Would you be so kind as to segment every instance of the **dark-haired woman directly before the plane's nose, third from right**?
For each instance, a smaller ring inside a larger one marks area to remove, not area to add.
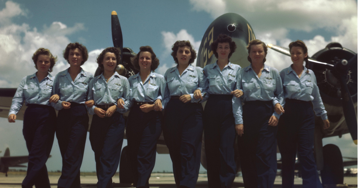
[[[208,101],[203,115],[209,188],[231,187],[236,176],[236,117],[233,109],[237,109],[234,90],[237,72],[241,67],[229,61],[235,49],[236,44],[231,37],[220,34],[211,44],[211,50],[218,60],[204,67],[209,85],[204,97]]]

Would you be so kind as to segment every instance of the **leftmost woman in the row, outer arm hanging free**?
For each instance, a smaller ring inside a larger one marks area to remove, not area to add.
[[[24,104],[23,134],[29,151],[29,163],[22,187],[50,188],[46,161],[50,155],[56,125],[53,109],[58,96],[52,93],[54,77],[49,73],[57,61],[50,50],[39,48],[32,59],[37,72],[24,77],[11,103],[8,120],[15,122],[16,114]]]

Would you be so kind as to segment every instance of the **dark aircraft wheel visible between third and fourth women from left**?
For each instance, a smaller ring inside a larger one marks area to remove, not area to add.
[[[130,163],[128,146],[122,149],[121,159],[119,161],[119,182],[120,183],[134,183],[132,166]]]

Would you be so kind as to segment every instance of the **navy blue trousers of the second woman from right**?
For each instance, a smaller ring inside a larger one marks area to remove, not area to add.
[[[246,101],[242,107],[244,134],[238,136],[245,188],[272,188],[277,172],[277,126],[270,126],[272,101]]]

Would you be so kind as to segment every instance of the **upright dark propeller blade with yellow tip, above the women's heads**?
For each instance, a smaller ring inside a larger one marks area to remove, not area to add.
[[[112,11],[111,16],[111,22],[112,22],[112,40],[113,40],[113,46],[116,48],[120,48],[121,52],[123,52],[123,37],[122,37],[122,29],[121,25],[119,24],[119,19],[116,11]],[[121,62],[122,64],[123,58],[121,53]]]

